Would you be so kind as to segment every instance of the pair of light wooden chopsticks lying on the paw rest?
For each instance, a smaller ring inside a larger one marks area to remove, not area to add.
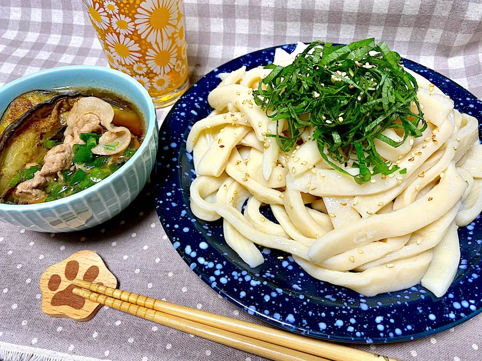
[[[72,284],[79,287],[74,294],[90,301],[276,361],[397,361],[91,282]]]

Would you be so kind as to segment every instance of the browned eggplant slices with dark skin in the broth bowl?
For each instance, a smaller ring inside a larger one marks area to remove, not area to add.
[[[48,97],[46,93],[42,95]],[[9,191],[9,184],[17,173],[41,155],[43,141],[65,127],[63,119],[82,97],[78,93],[53,95],[29,109],[27,101],[30,100],[26,94],[14,99],[0,121],[0,127],[4,121],[9,122],[0,135],[0,198]],[[22,99],[17,101],[19,98]],[[21,115],[13,118],[14,114]]]

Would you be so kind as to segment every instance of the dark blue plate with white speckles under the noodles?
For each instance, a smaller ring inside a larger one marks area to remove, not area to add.
[[[283,48],[292,51],[294,45]],[[482,311],[480,216],[459,230],[462,260],[455,281],[442,298],[420,285],[364,297],[315,280],[291,256],[278,250],[263,249],[265,263],[252,269],[224,242],[221,221],[204,222],[193,216],[189,186],[195,173],[185,147],[191,125],[211,111],[207,95],[220,81],[217,74],[243,65],[248,69],[266,65],[274,51],[260,50],[214,69],[179,99],[161,127],[154,171],[156,208],[184,261],[216,292],[250,314],[324,339],[368,343],[409,340],[446,330]],[[482,102],[467,90],[410,60],[404,64],[450,95],[459,111],[482,119]]]

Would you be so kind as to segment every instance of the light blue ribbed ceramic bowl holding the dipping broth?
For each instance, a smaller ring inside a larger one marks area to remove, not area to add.
[[[144,87],[117,70],[98,66],[65,66],[43,70],[0,88],[0,114],[18,95],[29,90],[61,87],[109,91],[138,107],[146,122],[139,150],[102,182],[72,196],[35,205],[0,204],[0,221],[38,232],[72,232],[96,226],[125,209],[139,194],[156,161],[156,110]]]

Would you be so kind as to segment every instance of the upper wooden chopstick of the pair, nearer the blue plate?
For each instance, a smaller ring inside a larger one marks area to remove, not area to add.
[[[81,280],[74,280],[72,283],[78,287],[115,299],[161,311],[176,317],[192,320],[204,325],[213,326],[228,332],[246,335],[253,339],[259,339],[271,344],[277,344],[319,357],[328,358],[333,361],[397,361],[395,358],[388,358],[387,356],[381,356],[376,353],[321,341],[276,328],[266,327],[95,283]]]

